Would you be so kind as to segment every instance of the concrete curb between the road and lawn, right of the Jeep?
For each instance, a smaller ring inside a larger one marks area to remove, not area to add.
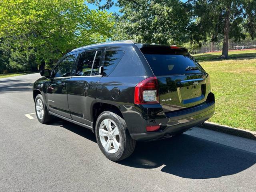
[[[204,124],[200,127],[218,131],[218,132],[222,132],[222,133],[226,133],[226,134],[230,134],[230,135],[235,135],[235,136],[239,136],[239,137],[256,140],[256,132],[253,132],[253,131],[218,125],[218,124],[212,123],[212,122],[204,122]]]

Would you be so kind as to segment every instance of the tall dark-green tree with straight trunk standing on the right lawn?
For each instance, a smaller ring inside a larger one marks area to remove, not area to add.
[[[190,24],[190,39],[199,43],[223,38],[222,58],[228,58],[228,40],[256,37],[255,0],[194,0],[191,1],[194,20]]]

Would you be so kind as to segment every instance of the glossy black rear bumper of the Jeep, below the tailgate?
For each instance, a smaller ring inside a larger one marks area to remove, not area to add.
[[[146,120],[146,123],[140,128],[137,127],[136,131],[131,132],[129,130],[130,135],[134,140],[138,141],[150,141],[170,137],[202,124],[213,116],[214,111],[215,102],[206,102],[193,108],[181,110],[180,112],[166,113],[164,116],[163,114],[158,113],[162,118]],[[136,120],[134,119],[133,122],[135,121]],[[142,121],[138,119],[138,122]],[[161,125],[161,128],[156,132],[147,132],[146,126],[151,125]]]

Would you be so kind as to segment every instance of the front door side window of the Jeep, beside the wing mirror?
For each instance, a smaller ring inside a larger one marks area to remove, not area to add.
[[[54,77],[68,77],[70,76],[73,64],[76,60],[76,54],[64,58],[53,71]]]

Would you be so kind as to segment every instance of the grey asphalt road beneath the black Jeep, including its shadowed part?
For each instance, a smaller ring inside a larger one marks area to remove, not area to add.
[[[256,191],[256,141],[194,127],[112,162],[94,134],[60,119],[40,124],[32,83],[0,80],[0,191]]]

